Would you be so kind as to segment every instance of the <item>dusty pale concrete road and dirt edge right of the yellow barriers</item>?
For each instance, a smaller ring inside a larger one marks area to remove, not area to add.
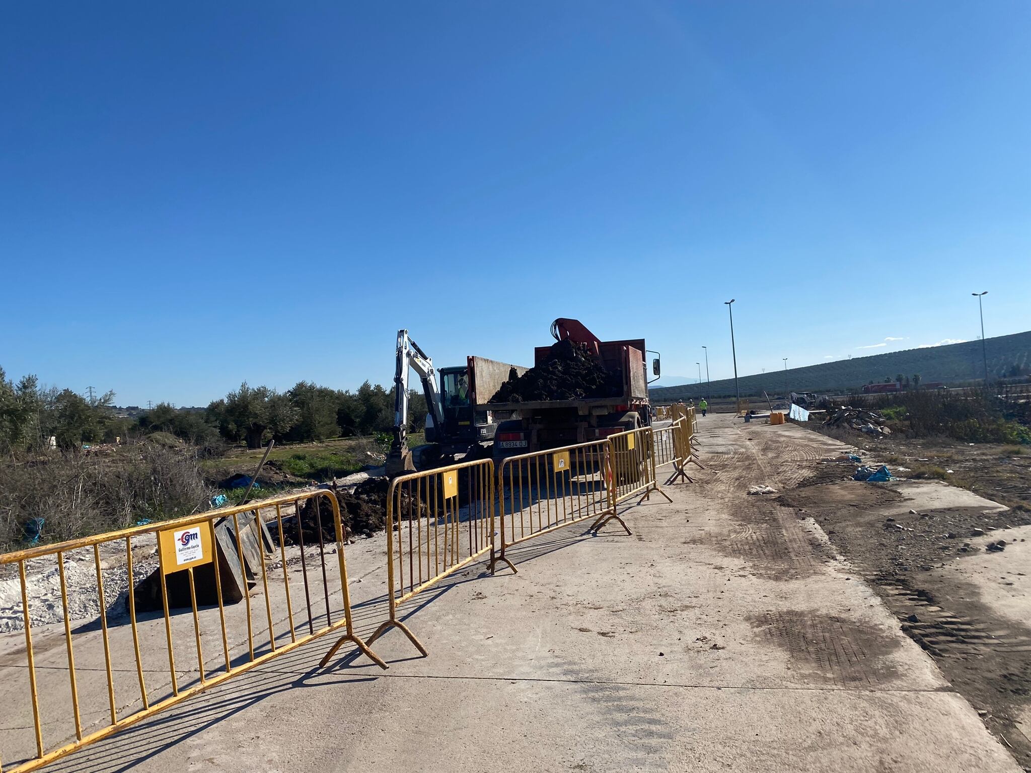
[[[405,604],[428,658],[391,631],[374,645],[389,671],[348,647],[320,670],[331,640],[318,640],[49,769],[1021,770],[1027,672],[1004,705],[972,683],[978,664],[988,678],[1031,649],[1031,534],[938,481],[829,477],[821,460],[844,446],[797,426],[709,414],[699,432],[706,469],[664,489],[673,504],[628,509],[632,536],[573,525],[512,548],[518,574],[472,565]],[[760,483],[777,493],[746,494]],[[945,511],[991,513],[1009,544],[917,570],[939,583],[927,599],[879,582],[870,553],[887,518]],[[387,615],[384,535],[347,561],[367,637]],[[909,633],[907,595],[921,605]],[[953,634],[920,629],[922,648],[910,634],[925,619]],[[40,660],[59,663],[60,629],[48,651],[41,638]],[[0,731],[31,727],[18,646],[0,638]],[[135,678],[131,661],[117,668]],[[40,670],[44,694],[66,678],[53,673]]]

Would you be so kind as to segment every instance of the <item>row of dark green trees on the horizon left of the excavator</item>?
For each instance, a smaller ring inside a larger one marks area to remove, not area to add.
[[[88,400],[71,390],[41,388],[35,376],[16,383],[0,368],[0,453],[45,448],[51,438],[63,448],[113,442],[133,435],[164,432],[197,445],[220,439],[256,448],[277,442],[303,442],[388,432],[394,426],[394,396],[368,381],[356,392],[299,381],[287,392],[250,386],[245,381],[203,411],[156,405],[138,419],[117,415],[114,393]],[[426,400],[412,392],[409,429],[426,422]]]

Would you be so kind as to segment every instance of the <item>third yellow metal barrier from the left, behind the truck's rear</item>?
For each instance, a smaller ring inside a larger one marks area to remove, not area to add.
[[[611,443],[595,440],[508,457],[498,470],[500,528],[497,554],[514,572],[505,549],[538,534],[594,518],[591,531],[616,517],[606,480],[611,478]]]

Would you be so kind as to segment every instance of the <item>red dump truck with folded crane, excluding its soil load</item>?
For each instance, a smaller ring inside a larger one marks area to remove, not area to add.
[[[590,354],[612,374],[613,381],[622,382],[622,391],[613,397],[504,403],[492,403],[493,393],[480,392],[476,397],[484,402],[477,402],[476,410],[490,411],[498,422],[493,446],[495,464],[505,457],[598,440],[652,423],[647,399],[648,350],[643,338],[601,341],[576,320],[566,318],[552,323],[552,335],[556,341],[586,344]],[[534,366],[542,365],[551,350],[551,346],[537,346]],[[660,375],[658,357],[652,361],[652,372],[656,377]]]

